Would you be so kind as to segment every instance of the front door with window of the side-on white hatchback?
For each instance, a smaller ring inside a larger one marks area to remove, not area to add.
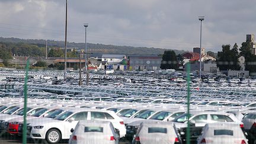
[[[79,120],[87,120],[87,117],[88,117],[88,112],[87,111],[82,111],[82,112],[73,114],[71,117],[69,117],[65,121],[65,126],[64,126],[65,127],[64,131],[66,133],[66,136],[69,138],[72,134],[71,129],[75,129],[76,124],[78,124],[78,121]],[[70,121],[71,119],[73,119],[73,121]]]

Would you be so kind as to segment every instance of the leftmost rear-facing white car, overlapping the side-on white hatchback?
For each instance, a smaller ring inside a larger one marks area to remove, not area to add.
[[[81,120],[71,132],[69,144],[119,143],[119,135],[110,121]]]

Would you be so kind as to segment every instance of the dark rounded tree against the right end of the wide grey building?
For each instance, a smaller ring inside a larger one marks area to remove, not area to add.
[[[165,50],[162,56],[161,69],[178,69],[177,56],[173,50]]]

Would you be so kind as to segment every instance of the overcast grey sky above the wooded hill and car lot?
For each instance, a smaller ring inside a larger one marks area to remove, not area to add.
[[[0,37],[65,40],[65,0],[0,0]],[[254,0],[68,0],[68,41],[217,52],[256,33]]]

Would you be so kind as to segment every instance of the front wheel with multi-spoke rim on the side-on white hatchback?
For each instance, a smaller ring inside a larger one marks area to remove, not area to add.
[[[48,143],[58,143],[61,139],[61,133],[57,129],[50,129],[46,133],[46,141]]]

